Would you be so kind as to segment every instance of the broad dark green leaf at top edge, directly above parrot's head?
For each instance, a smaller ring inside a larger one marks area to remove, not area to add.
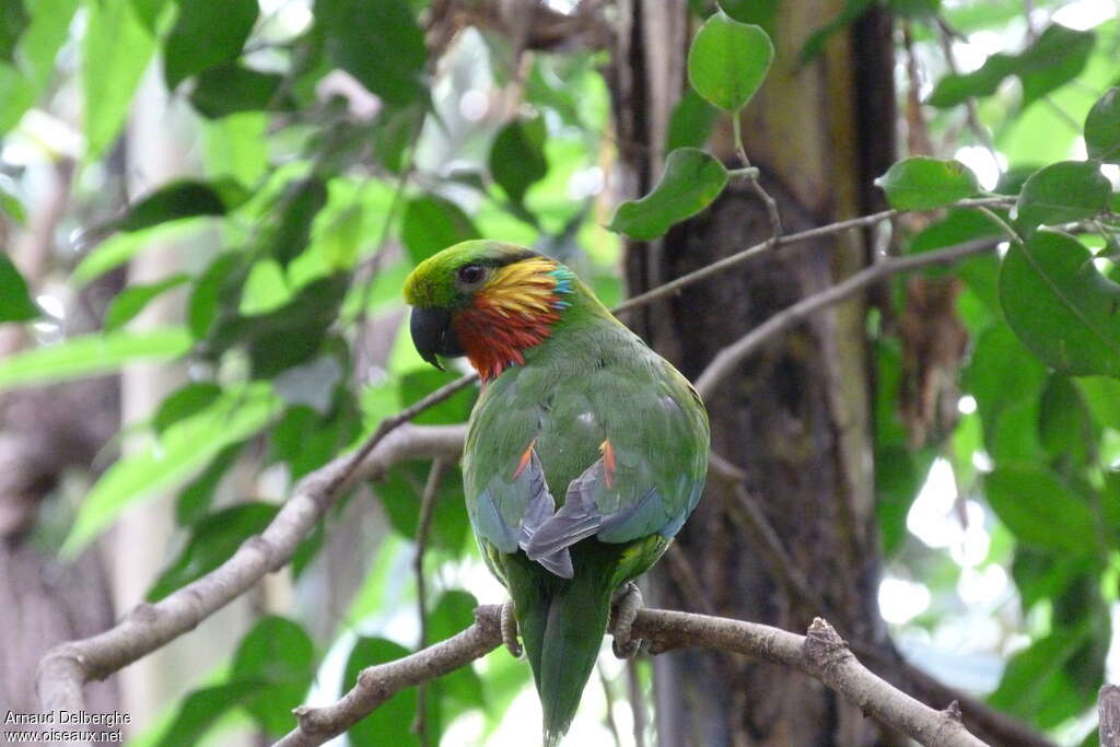
[[[407,0],[315,0],[327,55],[386,103],[427,102],[423,31]]]

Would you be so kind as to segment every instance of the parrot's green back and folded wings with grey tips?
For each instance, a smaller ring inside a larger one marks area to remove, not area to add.
[[[688,381],[642,351],[635,365],[579,380],[542,382],[524,368],[488,386],[465,465],[480,540],[571,578],[568,548],[581,540],[680,530],[703,487],[707,415]],[[550,485],[566,486],[559,510]]]

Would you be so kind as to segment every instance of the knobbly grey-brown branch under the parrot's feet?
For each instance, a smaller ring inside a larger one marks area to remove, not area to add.
[[[475,623],[463,633],[411,656],[371,666],[358,675],[354,689],[334,704],[296,709],[299,725],[277,747],[321,745],[360,721],[404,688],[452,672],[485,656],[502,643],[501,607],[475,610]],[[865,713],[875,717],[926,747],[980,747],[961,723],[955,701],[934,710],[893,688],[865,667],[848,644],[821,618],[808,635],[691,613],[642,609],[634,619],[633,635],[651,641],[660,651],[702,646],[746,654],[791,666],[823,682]]]

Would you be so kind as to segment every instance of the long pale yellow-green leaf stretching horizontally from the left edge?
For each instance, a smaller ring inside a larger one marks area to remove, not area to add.
[[[189,347],[181,327],[71,337],[0,360],[0,391],[110,373],[131,361],[177,358]]]

